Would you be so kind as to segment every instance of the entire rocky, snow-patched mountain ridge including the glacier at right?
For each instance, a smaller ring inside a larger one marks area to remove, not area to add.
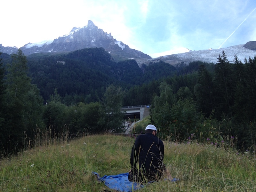
[[[134,59],[139,67],[143,64],[149,65],[149,63],[159,61],[167,62],[173,66],[179,65],[180,63],[188,64],[193,61],[216,63],[222,51],[226,53],[227,59],[231,62],[234,60],[235,54],[241,61],[256,55],[256,41],[250,41],[244,45],[234,45],[227,48],[197,51],[187,50],[182,53],[152,58],[141,51],[131,49],[129,45],[124,44],[122,41],[117,41],[111,33],[104,32],[103,29],[95,26],[91,20],[88,21],[86,26],[81,28],[74,27],[68,34],[54,40],[28,43],[20,47],[20,49],[25,55],[31,55],[34,53],[68,53],[95,47],[103,47],[116,61]],[[4,47],[0,44],[0,51],[3,53],[11,54],[17,50],[17,47]]]

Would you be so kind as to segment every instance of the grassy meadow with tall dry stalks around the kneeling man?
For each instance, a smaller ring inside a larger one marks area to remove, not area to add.
[[[105,134],[38,144],[0,160],[0,191],[113,191],[92,172],[128,172],[133,142]],[[163,180],[136,191],[256,191],[255,156],[196,142],[164,145],[164,163],[180,181]]]

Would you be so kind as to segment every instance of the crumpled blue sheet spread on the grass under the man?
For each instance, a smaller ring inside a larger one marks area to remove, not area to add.
[[[92,172],[97,175],[98,180],[104,182],[110,189],[114,189],[121,192],[132,192],[139,188],[143,188],[144,185],[134,183],[128,180],[128,173],[121,173],[118,175],[104,175],[100,177],[98,173]]]

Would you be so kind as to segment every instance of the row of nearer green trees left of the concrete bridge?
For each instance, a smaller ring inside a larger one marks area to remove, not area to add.
[[[78,102],[67,106],[54,90],[44,102],[28,76],[27,57],[12,54],[6,71],[0,60],[0,152],[4,156],[33,145],[35,135],[51,129],[52,136],[123,131],[121,87],[110,84],[100,102]]]

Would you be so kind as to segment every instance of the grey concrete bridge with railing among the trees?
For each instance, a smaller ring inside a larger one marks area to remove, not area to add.
[[[143,119],[149,115],[150,105],[135,105],[122,107],[121,111],[125,111],[125,119]]]

